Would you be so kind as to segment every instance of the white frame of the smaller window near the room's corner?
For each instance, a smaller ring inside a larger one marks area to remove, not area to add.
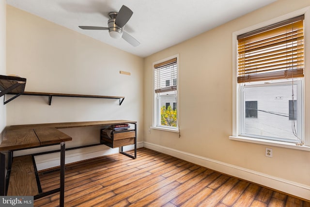
[[[163,63],[165,61],[171,60],[173,58],[176,58],[176,63],[177,63],[177,83],[176,83],[176,108],[177,108],[177,117],[179,117],[180,114],[180,108],[179,108],[179,68],[180,68],[180,64],[179,64],[179,54],[170,56],[168,58],[156,61],[153,63],[153,67],[152,69],[154,70],[154,65],[155,64],[159,64],[159,63]],[[171,131],[171,132],[179,132],[179,118],[177,118],[177,124],[176,127],[171,127],[171,126],[162,126],[162,125],[158,125],[157,123],[159,123],[160,121],[160,114],[157,113],[157,111],[159,111],[159,102],[157,100],[156,97],[156,93],[155,93],[155,77],[154,77],[154,71],[153,71],[153,123],[152,123],[152,129],[159,129],[159,130],[164,130],[164,131]]]

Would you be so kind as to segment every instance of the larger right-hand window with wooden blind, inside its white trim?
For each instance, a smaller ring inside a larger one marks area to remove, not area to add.
[[[237,35],[238,136],[303,143],[304,15]]]

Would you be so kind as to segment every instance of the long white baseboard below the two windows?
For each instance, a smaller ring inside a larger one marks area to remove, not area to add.
[[[225,162],[208,159],[198,155],[190,154],[180,150],[169,147],[157,145],[154,143],[144,142],[143,147],[152,149],[176,158],[184,159],[186,161],[201,165],[203,167],[221,172],[227,175],[232,175],[244,180],[248,180],[259,185],[266,186],[278,191],[282,191],[300,198],[310,200],[310,186],[296,183],[290,180],[282,179],[272,175],[263,174],[257,171],[249,170],[247,168],[238,167],[236,165]]]

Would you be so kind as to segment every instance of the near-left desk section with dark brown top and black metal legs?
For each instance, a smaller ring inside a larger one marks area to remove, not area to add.
[[[0,195],[6,195],[8,190],[9,177],[12,169],[13,151],[22,150],[34,147],[42,147],[54,144],[61,145],[61,160],[60,160],[60,188],[47,192],[39,191],[39,194],[34,195],[34,199],[38,199],[55,192],[60,192],[60,206],[64,204],[64,159],[65,159],[65,142],[71,141],[72,138],[65,133],[53,127],[41,128],[22,128],[8,127],[5,130],[5,135],[0,144]],[[8,152],[7,156],[7,175],[5,175],[6,156],[2,152]]]

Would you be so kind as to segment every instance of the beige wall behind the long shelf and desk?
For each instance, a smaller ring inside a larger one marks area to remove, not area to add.
[[[26,78],[25,91],[125,96],[121,106],[118,99],[69,97],[53,97],[49,106],[48,97],[19,96],[6,105],[7,126],[126,119],[138,122],[138,142],[143,140],[142,58],[10,5],[6,20],[7,73]],[[99,141],[98,128],[85,130],[67,130],[84,139],[68,146]]]

